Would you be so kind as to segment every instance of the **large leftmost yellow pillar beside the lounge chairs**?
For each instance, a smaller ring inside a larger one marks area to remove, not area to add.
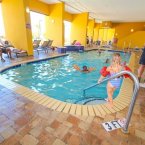
[[[29,14],[26,13],[27,0],[4,0],[2,12],[5,26],[6,39],[12,42],[16,48],[28,51],[33,54]]]

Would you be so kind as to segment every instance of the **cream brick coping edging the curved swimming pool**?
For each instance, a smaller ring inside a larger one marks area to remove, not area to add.
[[[61,56],[67,56],[67,55],[68,54],[61,55]],[[21,64],[28,63],[28,62],[41,61],[41,60],[46,60],[46,59],[53,59],[56,57],[60,57],[60,55],[54,56],[54,57],[49,57],[49,58],[43,58],[43,59],[39,59],[39,60],[19,62],[17,64],[13,64],[8,67],[2,68],[0,70],[0,72],[6,70],[8,68],[11,68],[15,65],[21,65]],[[129,61],[129,66],[131,68],[133,67],[133,63],[134,63],[134,61],[132,61],[132,60],[134,60],[133,54],[131,55],[130,61]],[[124,79],[122,86],[121,86],[121,91],[118,94],[118,96],[114,99],[114,102],[113,102],[114,106],[111,108],[107,104],[79,105],[79,104],[71,104],[71,103],[62,102],[62,101],[53,99],[49,96],[37,93],[27,87],[19,85],[10,80],[4,79],[2,77],[0,77],[0,80],[1,80],[0,81],[1,85],[16,92],[17,94],[20,94],[23,97],[28,98],[29,100],[34,101],[35,103],[38,103],[40,105],[43,105],[44,107],[50,108],[55,111],[69,113],[69,114],[73,114],[73,115],[80,115],[80,116],[104,117],[107,114],[111,114],[111,113],[115,113],[115,112],[123,110],[130,103],[130,98],[131,98],[132,88],[133,88],[132,82],[129,79]],[[128,90],[130,90],[129,93],[128,93]],[[124,98],[124,96],[126,96],[126,97]]]

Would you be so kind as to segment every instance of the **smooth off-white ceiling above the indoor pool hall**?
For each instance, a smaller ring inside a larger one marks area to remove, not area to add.
[[[113,22],[145,21],[145,0],[43,0],[47,3],[63,1],[70,13],[89,12],[96,20]]]

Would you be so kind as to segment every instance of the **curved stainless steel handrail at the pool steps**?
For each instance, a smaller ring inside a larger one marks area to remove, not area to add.
[[[127,116],[126,116],[126,123],[124,125],[124,127],[122,128],[122,131],[124,133],[128,133],[128,126],[129,126],[129,122],[130,122],[130,119],[131,119],[131,116],[132,116],[132,112],[133,112],[133,109],[134,109],[134,105],[135,105],[135,101],[136,101],[136,97],[138,95],[138,90],[139,90],[139,81],[138,79],[136,78],[136,76],[129,72],[129,71],[121,71],[119,73],[117,73],[116,75],[114,75],[113,77],[110,77],[110,78],[107,78],[107,79],[104,79],[102,82],[100,83],[96,83],[88,88],[85,88],[83,90],[83,95],[85,96],[86,95],[86,90],[90,89],[90,88],[93,88],[97,85],[100,85],[101,83],[103,82],[106,82],[106,81],[109,81],[109,80],[112,80],[114,78],[117,78],[119,76],[122,76],[124,74],[128,74],[129,76],[131,76],[131,78],[133,79],[134,81],[134,87],[133,87],[133,95],[132,95],[132,99],[131,99],[131,103],[130,103],[130,106],[129,106],[129,110],[128,110],[128,113],[127,113]]]

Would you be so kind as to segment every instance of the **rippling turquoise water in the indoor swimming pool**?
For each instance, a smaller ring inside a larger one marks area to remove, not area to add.
[[[70,53],[68,56],[26,64],[12,68],[2,73],[2,76],[31,88],[37,92],[52,98],[75,103],[84,99],[83,89],[93,85],[100,77],[100,68],[106,65],[106,58],[112,58],[112,52],[103,52],[101,56],[96,51],[84,53]],[[121,53],[123,61],[129,60],[129,56]],[[80,67],[87,65],[95,67],[91,73],[81,73],[73,68],[77,64]],[[107,64],[109,65],[109,64]],[[117,96],[119,89],[115,91]],[[86,98],[106,98],[106,83],[86,91]]]

